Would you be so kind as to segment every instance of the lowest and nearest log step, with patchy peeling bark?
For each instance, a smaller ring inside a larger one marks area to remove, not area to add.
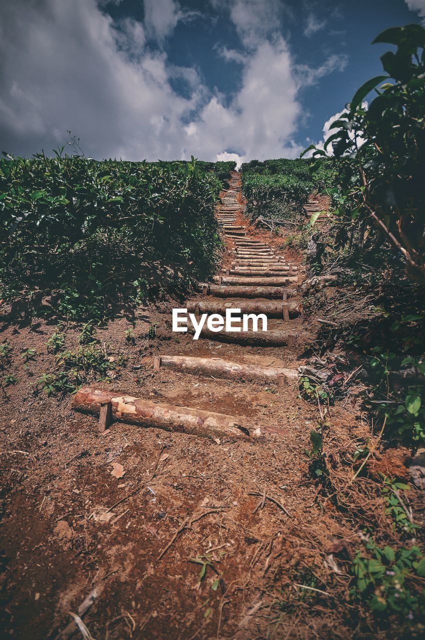
[[[232,436],[248,440],[255,424],[244,416],[225,415],[186,406],[154,403],[119,391],[83,387],[72,400],[72,408],[99,415],[102,404],[111,403],[112,418],[129,424],[156,427],[196,436]]]

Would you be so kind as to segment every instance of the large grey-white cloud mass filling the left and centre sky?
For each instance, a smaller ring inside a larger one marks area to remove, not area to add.
[[[170,65],[164,51],[147,47],[147,32],[163,40],[179,19],[193,17],[180,17],[177,2],[159,4],[166,11],[150,2],[144,24],[117,24],[96,0],[0,2],[2,148],[49,153],[71,129],[97,158],[296,157],[300,92],[342,59],[330,56],[315,70],[297,66],[276,30],[280,4],[271,0],[262,12],[262,1],[235,0],[227,7],[242,50],[223,47],[221,55],[241,63],[240,82],[225,97],[195,68]],[[173,90],[175,79],[186,97]]]

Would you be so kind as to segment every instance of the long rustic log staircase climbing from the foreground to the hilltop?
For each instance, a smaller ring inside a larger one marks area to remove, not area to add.
[[[300,269],[287,262],[282,253],[277,252],[271,243],[264,240],[266,234],[247,231],[248,221],[245,223],[243,207],[238,200],[240,191],[240,174],[232,172],[230,187],[225,191],[216,209],[227,250],[226,262],[230,262],[230,265],[221,268],[220,273],[213,276],[211,282],[200,283],[200,295],[188,300],[186,308],[196,316],[204,313],[219,313],[225,316],[227,308],[240,308],[241,314],[264,314],[268,318],[268,330],[226,332],[223,329],[213,332],[204,325],[200,339],[191,340],[190,344],[182,344],[182,353],[186,352],[186,355],[170,355],[164,352],[163,355],[154,358],[154,370],[170,369],[184,375],[204,376],[210,380],[214,379],[211,380],[211,385],[220,379],[246,381],[256,385],[294,384],[298,378],[296,368],[264,366],[261,350],[266,351],[266,358],[272,362],[282,362],[285,348],[290,352],[294,350],[300,335],[300,323],[297,323],[297,319],[302,311],[298,298]],[[294,323],[297,324],[294,326]],[[223,346],[225,344],[226,349],[223,349],[223,353],[228,357],[205,357],[205,344],[211,344],[211,341],[221,342]],[[244,357],[246,349],[251,349],[248,362]],[[235,353],[241,356],[239,361],[232,360]],[[193,407],[152,403],[92,387],[81,389],[74,397],[74,408],[94,415],[106,415],[104,410],[100,410],[105,404],[109,406],[110,421],[115,418],[194,435],[231,435],[246,439],[256,438],[264,433],[279,432],[275,424],[262,424],[264,415],[258,419],[229,416]],[[219,407],[217,409],[220,410]],[[108,426],[109,422],[104,422],[100,428]]]

